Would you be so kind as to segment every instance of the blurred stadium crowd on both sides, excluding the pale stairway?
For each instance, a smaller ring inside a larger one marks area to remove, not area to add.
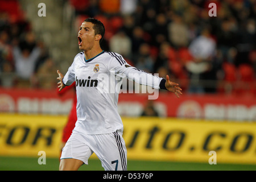
[[[67,1],[77,24],[88,17],[105,24],[102,49],[120,53],[138,69],[171,75],[183,92],[256,94],[255,0]],[[217,16],[208,14],[211,2]],[[15,82],[0,84],[55,87],[39,80],[56,69],[30,22],[0,7],[0,73],[16,73]]]

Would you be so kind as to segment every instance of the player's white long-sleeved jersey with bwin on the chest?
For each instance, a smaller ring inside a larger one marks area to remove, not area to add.
[[[164,80],[131,67],[121,55],[115,52],[102,51],[89,60],[85,60],[84,52],[76,55],[63,78],[65,85],[76,82],[77,122],[75,131],[85,134],[123,131],[117,102],[124,77],[155,89],[160,89],[160,82]]]

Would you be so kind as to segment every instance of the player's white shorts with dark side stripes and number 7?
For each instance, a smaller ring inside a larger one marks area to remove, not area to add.
[[[60,159],[78,159],[88,164],[95,152],[105,171],[126,171],[127,150],[122,133],[88,135],[73,131],[62,150]]]

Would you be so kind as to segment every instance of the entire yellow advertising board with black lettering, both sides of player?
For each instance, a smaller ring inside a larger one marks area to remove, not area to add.
[[[122,118],[127,159],[256,164],[256,123]],[[67,116],[0,114],[0,155],[59,157]],[[93,156],[96,157],[95,155]]]

